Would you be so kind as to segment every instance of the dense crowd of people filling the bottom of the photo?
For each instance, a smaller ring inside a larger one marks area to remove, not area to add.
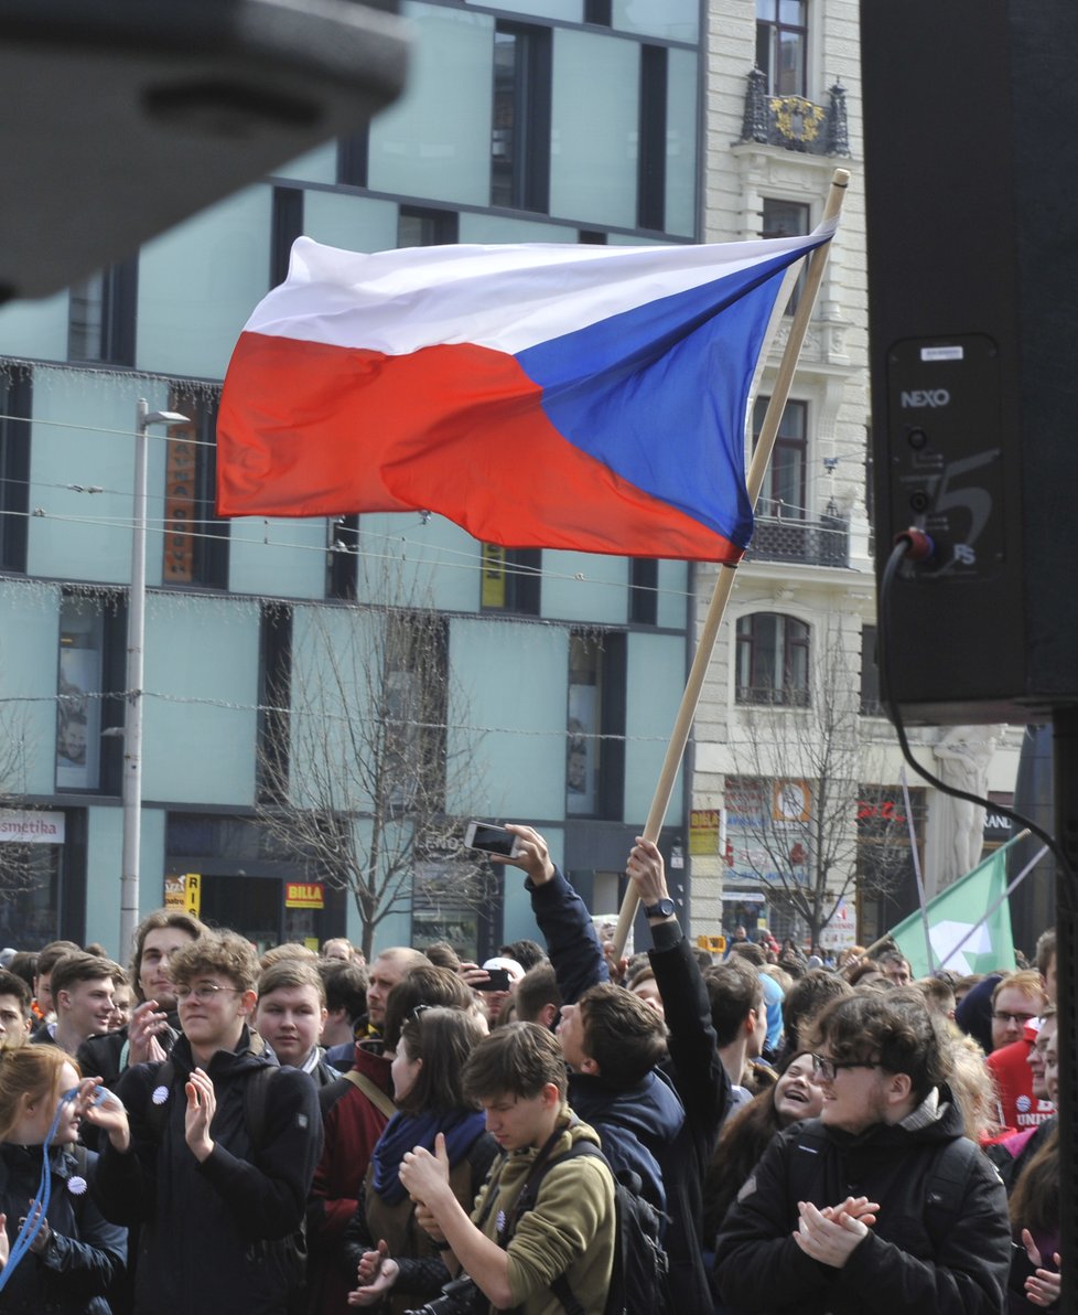
[[[626,1201],[651,1315],[990,1315],[1060,1301],[1054,932],[1036,965],[914,981],[741,930],[615,961],[514,826],[546,945],[364,963],[183,911],[130,970],[0,959],[0,1312],[603,1315]],[[628,1194],[628,1195],[627,1195]]]

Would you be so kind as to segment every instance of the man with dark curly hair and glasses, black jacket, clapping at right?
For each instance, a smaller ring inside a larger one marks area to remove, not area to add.
[[[858,993],[811,1040],[819,1119],[772,1141],[718,1236],[730,1306],[798,1315],[1004,1308],[1010,1224],[962,1135],[940,1024],[919,999]]]

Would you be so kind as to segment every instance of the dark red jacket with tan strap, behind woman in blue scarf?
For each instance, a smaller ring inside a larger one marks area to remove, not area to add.
[[[368,1047],[368,1041],[356,1043],[354,1072],[363,1073],[389,1095],[392,1060]],[[310,1315],[340,1315],[356,1286],[356,1276],[348,1273],[343,1258],[344,1228],[355,1214],[371,1152],[389,1119],[347,1077],[323,1086],[318,1099],[325,1147],[308,1205],[308,1310]]]

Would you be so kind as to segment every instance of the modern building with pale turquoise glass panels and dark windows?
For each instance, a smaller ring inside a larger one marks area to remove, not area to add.
[[[3,943],[129,948],[120,788],[143,397],[187,421],[150,434],[142,909],[197,890],[208,918],[260,945],[360,939],[333,873],[287,851],[260,810],[283,763],[291,802],[312,803],[301,727],[317,707],[326,726],[422,722],[408,661],[390,714],[359,689],[333,707],[326,684],[331,655],[385,651],[379,609],[417,600],[442,618],[444,818],[534,822],[596,910],[617,905],[684,685],[689,567],[506,552],[422,515],[214,515],[221,380],[300,234],[350,250],[701,235],[697,0],[406,0],[402,13],[408,87],[369,126],[68,292],[0,309],[0,732],[17,748],[0,756]],[[393,752],[418,772],[409,734]],[[410,798],[398,782],[404,828]],[[360,844],[373,807],[342,810]],[[668,848],[684,807],[678,784]],[[411,868],[376,943],[447,934],[482,953],[535,934],[511,869],[477,907],[436,847]]]

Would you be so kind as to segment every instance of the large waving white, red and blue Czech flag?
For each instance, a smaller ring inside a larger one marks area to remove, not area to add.
[[[827,242],[300,238],[233,354],[221,515],[436,512],[485,543],[740,560],[744,434],[785,270]]]

